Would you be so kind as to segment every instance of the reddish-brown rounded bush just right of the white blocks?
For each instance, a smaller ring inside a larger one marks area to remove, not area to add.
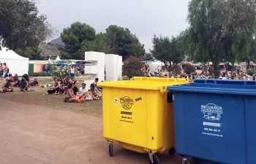
[[[123,74],[127,77],[143,77],[143,64],[141,61],[140,58],[129,56],[129,58],[124,61]]]

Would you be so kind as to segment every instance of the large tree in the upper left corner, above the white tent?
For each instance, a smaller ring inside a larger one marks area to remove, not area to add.
[[[51,34],[53,34],[53,28],[46,21],[45,15],[39,15],[34,1],[0,1],[1,46],[11,50],[37,47]]]

